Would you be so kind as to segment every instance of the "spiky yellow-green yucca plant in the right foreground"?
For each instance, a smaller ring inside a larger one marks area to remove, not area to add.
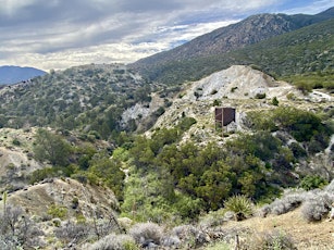
[[[224,207],[226,211],[234,212],[236,221],[243,221],[249,217],[253,210],[252,202],[243,195],[230,197],[224,202]]]

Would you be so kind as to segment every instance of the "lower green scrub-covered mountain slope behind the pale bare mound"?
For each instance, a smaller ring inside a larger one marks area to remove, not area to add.
[[[243,49],[171,61],[140,70],[150,79],[168,85],[198,80],[235,64],[257,65],[273,75],[333,71],[334,20],[324,21],[247,46]],[[331,74],[331,73],[330,73]]]

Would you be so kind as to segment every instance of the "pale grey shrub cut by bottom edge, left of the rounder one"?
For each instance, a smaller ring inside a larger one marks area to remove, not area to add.
[[[135,240],[128,235],[111,234],[90,246],[90,250],[139,250]]]

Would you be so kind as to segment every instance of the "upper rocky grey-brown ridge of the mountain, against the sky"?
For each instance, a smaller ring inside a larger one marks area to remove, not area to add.
[[[218,28],[166,52],[141,59],[135,64],[159,64],[189,58],[224,53],[270,37],[334,17],[334,8],[316,15],[258,14]]]

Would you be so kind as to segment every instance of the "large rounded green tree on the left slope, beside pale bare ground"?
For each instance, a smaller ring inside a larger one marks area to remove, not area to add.
[[[35,136],[34,153],[39,161],[50,161],[52,165],[66,166],[71,145],[60,135],[39,128]]]

